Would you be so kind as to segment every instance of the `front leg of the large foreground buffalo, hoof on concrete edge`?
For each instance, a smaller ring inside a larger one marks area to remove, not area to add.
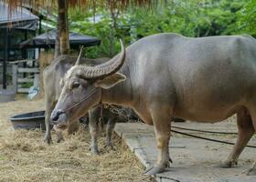
[[[153,111],[155,111],[154,109]],[[165,167],[169,167],[170,157],[169,157],[169,140],[170,140],[170,130],[171,122],[170,115],[168,112],[163,112],[161,108],[157,109],[160,112],[153,113],[152,119],[155,128],[155,139],[157,146],[157,162],[154,167],[149,167],[145,170],[144,175],[156,175],[165,170]]]

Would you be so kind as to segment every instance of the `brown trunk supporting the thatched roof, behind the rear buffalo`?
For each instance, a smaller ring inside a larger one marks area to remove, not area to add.
[[[68,2],[59,0],[60,55],[69,54]]]

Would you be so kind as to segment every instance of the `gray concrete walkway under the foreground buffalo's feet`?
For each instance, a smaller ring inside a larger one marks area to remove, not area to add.
[[[218,124],[198,124],[192,122],[174,123],[195,129],[236,132],[234,122]],[[197,136],[205,136],[229,142],[235,142],[236,135],[202,134],[181,129]],[[115,126],[116,133],[123,138],[144,167],[153,165],[156,161],[156,147],[153,126],[142,123],[119,123]],[[255,137],[250,145],[256,146]],[[171,137],[170,157],[173,164],[164,173],[156,175],[159,182],[256,182],[256,177],[244,176],[241,172],[251,167],[256,159],[256,148],[246,147],[240,156],[239,166],[219,168],[219,161],[228,157],[232,146],[219,144],[202,139],[173,134]]]

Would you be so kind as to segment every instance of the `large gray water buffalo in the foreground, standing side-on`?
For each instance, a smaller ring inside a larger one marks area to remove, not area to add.
[[[98,103],[130,106],[155,126],[155,175],[169,166],[170,117],[222,121],[237,114],[238,140],[223,167],[237,164],[256,129],[256,40],[250,35],[150,35],[107,63],[76,66],[64,77],[53,124],[67,125]],[[251,174],[255,173],[251,168]]]

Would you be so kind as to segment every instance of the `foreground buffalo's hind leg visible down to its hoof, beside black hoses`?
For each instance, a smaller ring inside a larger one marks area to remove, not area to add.
[[[248,144],[251,136],[254,134],[254,128],[252,126],[251,116],[247,109],[241,110],[237,113],[237,126],[238,126],[238,138],[235,146],[227,160],[222,162],[220,167],[234,167],[238,164],[238,158],[240,153]]]

